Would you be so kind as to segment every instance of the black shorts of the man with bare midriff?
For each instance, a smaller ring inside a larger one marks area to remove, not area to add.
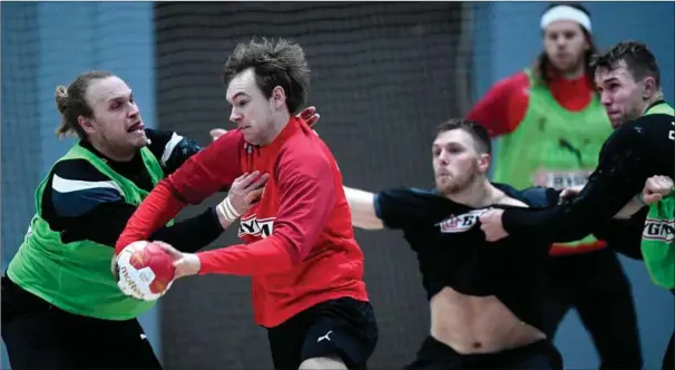
[[[562,370],[560,352],[542,340],[497,353],[460,354],[452,348],[428,337],[417,359],[404,370],[453,370],[453,369],[528,369]]]

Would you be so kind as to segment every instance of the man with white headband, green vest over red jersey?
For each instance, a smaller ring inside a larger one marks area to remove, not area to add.
[[[517,188],[583,186],[612,134],[588,68],[595,52],[590,16],[576,3],[551,3],[540,26],[544,50],[535,66],[497,82],[468,117],[500,137],[492,181]],[[613,246],[625,242],[603,236]],[[551,247],[547,331],[552,337],[575,308],[600,368],[638,369],[643,360],[630,283],[606,245],[591,235]]]

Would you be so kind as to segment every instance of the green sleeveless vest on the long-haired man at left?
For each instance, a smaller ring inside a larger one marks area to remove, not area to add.
[[[157,185],[164,177],[159,163],[147,148],[141,148],[140,155],[153,184]],[[121,191],[128,204],[137,206],[148,195],[80,145],[71,147],[58,162],[70,159],[85,159],[94,165]],[[117,286],[110,271],[114,247],[91,241],[66,244],[61,242],[59,233],[51,231],[41,217],[46,185],[47,178],[36,192],[37,213],[23,243],[9,264],[7,273],[10,279],[22,289],[75,314],[105,320],[129,320],[149,310],[154,302],[129,298]]]

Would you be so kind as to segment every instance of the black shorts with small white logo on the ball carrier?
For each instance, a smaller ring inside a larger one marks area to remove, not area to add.
[[[341,298],[268,328],[267,337],[276,370],[297,370],[304,360],[322,357],[363,370],[378,343],[378,323],[369,302]]]

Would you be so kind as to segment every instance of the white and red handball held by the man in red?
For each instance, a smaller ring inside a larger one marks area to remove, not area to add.
[[[117,257],[121,291],[144,301],[155,301],[166,293],[176,270],[172,256],[157,243],[139,241],[127,245]]]

